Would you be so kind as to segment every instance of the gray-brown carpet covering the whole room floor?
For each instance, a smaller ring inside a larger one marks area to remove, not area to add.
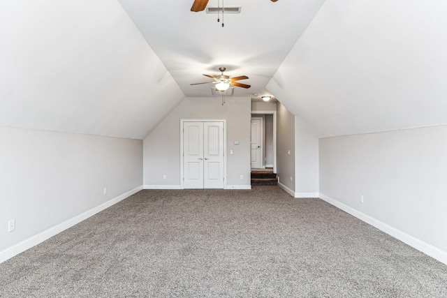
[[[277,186],[140,191],[0,276],[0,297],[447,297],[446,265]]]

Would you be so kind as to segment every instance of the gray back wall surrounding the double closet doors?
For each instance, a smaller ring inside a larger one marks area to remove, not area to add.
[[[147,188],[180,186],[180,119],[226,119],[227,184],[250,188],[250,98],[185,98],[144,139],[143,181]],[[239,145],[234,142],[238,140]],[[233,149],[233,154],[229,154]],[[163,179],[166,174],[166,179]],[[244,179],[240,179],[243,175]]]

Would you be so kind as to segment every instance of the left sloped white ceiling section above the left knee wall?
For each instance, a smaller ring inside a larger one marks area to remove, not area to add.
[[[2,1],[0,126],[142,138],[184,93],[117,1]]]

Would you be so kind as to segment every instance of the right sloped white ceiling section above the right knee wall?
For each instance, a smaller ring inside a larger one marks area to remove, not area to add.
[[[319,137],[447,124],[446,11],[327,0],[267,89]]]

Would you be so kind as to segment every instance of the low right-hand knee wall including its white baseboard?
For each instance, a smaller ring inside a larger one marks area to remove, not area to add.
[[[330,137],[319,149],[322,198],[447,264],[447,126]]]

